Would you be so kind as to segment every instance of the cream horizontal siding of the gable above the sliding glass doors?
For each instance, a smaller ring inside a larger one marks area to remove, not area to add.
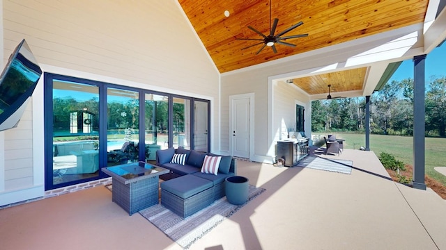
[[[176,1],[5,1],[5,47],[39,63],[215,96],[218,73]],[[10,51],[5,51],[9,55]]]

